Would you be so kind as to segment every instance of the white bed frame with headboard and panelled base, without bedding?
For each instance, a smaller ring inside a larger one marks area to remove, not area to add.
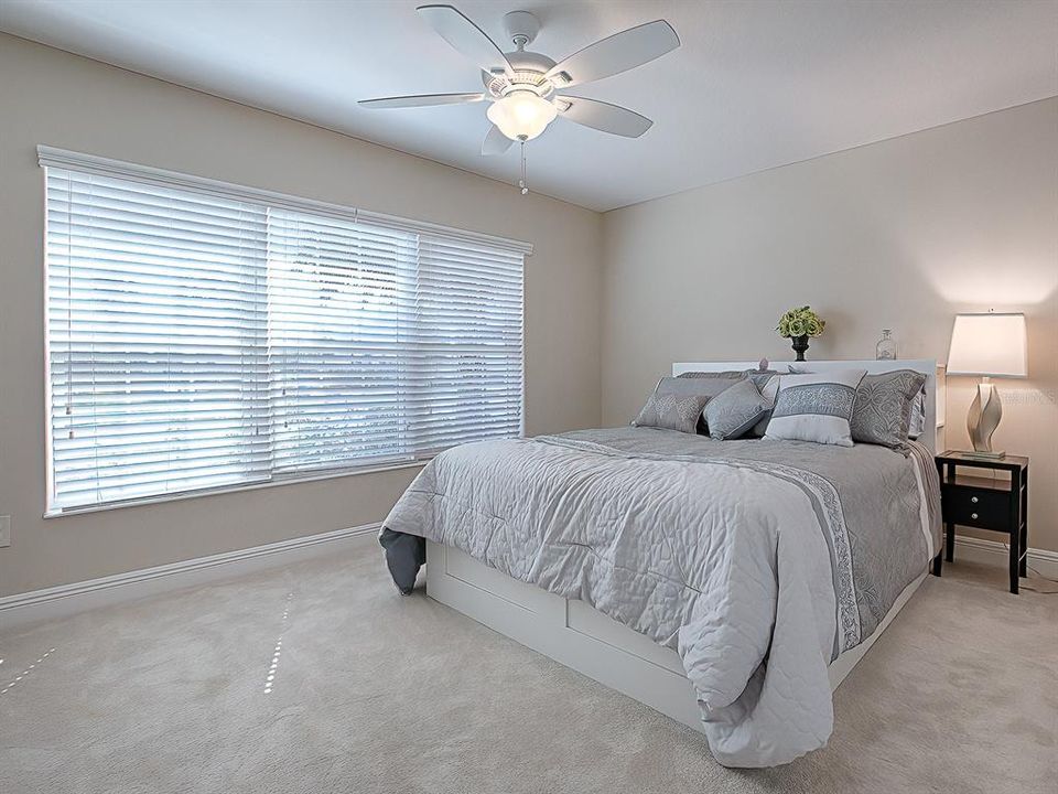
[[[787,364],[771,368],[787,372]],[[812,372],[866,369],[884,373],[915,369],[926,383],[926,427],[937,426],[937,364],[933,361],[806,362]],[[672,374],[756,368],[756,362],[711,362],[673,364]],[[936,453],[936,434],[919,439]],[[859,664],[896,614],[910,600],[927,575],[908,584],[877,630],[830,665],[830,686],[836,689]],[[458,549],[427,543],[427,593],[489,629],[531,647],[554,661],[583,673],[634,698],[678,722],[702,730],[701,715],[691,683],[679,655],[643,634],[617,623],[583,601],[564,599],[532,584],[518,581],[478,562]]]

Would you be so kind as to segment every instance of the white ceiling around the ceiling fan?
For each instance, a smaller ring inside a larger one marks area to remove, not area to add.
[[[415,14],[428,0],[0,0],[0,29],[506,182],[482,104],[357,99],[474,92],[479,73]],[[436,1],[436,0],[433,0]],[[449,0],[503,49],[561,57],[654,19],[682,46],[577,94],[655,120],[628,140],[561,119],[527,146],[530,186],[611,210],[1058,95],[1056,0]]]

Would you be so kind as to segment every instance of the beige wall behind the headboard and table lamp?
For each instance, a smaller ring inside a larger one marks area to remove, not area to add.
[[[604,215],[603,422],[633,417],[673,361],[790,356],[773,329],[810,303],[809,358],[943,362],[959,311],[1024,311],[1028,380],[1000,382],[994,440],[1032,457],[1030,545],[1058,550],[1058,99]],[[967,448],[970,378],[949,378]],[[987,535],[1001,539],[996,535]]]

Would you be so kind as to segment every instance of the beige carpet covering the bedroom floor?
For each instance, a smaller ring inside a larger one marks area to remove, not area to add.
[[[1003,578],[927,579],[838,690],[828,748],[733,771],[645,706],[399,597],[366,538],[0,637],[0,791],[1054,794],[1058,597]]]

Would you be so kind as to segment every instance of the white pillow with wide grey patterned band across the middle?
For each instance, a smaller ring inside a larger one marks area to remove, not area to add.
[[[766,439],[852,447],[852,409],[865,369],[835,369],[779,379]]]

